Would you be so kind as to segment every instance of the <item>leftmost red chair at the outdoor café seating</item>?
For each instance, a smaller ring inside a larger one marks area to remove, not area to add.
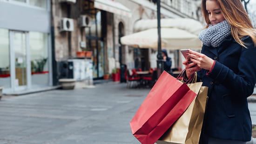
[[[133,70],[127,70],[127,87],[133,87],[135,84],[135,87],[140,85],[141,78],[137,75],[137,72],[135,69]]]

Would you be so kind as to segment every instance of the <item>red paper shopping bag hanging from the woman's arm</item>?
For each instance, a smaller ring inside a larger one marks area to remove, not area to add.
[[[196,93],[167,72],[162,72],[130,122],[141,144],[154,144],[182,115]]]

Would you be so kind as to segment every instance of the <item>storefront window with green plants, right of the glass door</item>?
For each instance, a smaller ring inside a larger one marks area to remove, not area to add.
[[[32,85],[49,83],[47,37],[47,33],[29,33]]]

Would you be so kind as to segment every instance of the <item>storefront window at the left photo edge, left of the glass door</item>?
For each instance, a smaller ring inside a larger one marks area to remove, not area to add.
[[[11,87],[9,31],[0,29],[0,86]]]

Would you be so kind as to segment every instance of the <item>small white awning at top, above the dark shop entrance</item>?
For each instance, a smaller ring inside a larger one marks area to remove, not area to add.
[[[131,17],[131,10],[114,0],[94,0],[94,7],[108,11],[110,13],[120,14]]]

